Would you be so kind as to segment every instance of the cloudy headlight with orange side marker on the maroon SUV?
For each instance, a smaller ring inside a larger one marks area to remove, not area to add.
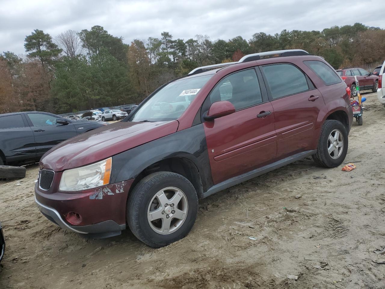
[[[92,165],[66,170],[62,174],[59,190],[62,192],[84,191],[109,184],[112,158]]]

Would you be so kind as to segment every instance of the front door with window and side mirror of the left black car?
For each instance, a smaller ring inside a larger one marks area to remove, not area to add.
[[[56,123],[56,116],[45,113],[25,113],[36,143],[36,157],[40,158],[46,151],[62,141],[77,135],[74,124]]]

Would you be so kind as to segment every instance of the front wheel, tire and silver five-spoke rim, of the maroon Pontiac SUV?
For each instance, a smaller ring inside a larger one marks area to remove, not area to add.
[[[144,177],[127,202],[132,233],[151,247],[163,247],[185,237],[198,213],[198,196],[184,176],[161,171]]]

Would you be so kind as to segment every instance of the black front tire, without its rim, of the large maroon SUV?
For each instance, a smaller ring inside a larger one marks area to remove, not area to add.
[[[147,219],[147,212],[152,198],[162,189],[176,187],[186,196],[187,215],[181,226],[167,235],[153,230]],[[152,173],[144,177],[130,194],[127,201],[127,223],[132,233],[151,247],[164,247],[184,238],[191,230],[198,214],[198,196],[194,186],[184,176],[168,171]]]

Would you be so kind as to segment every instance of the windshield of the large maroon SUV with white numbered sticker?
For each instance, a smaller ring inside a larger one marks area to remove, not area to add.
[[[173,81],[136,109],[131,121],[170,121],[181,116],[213,74]]]

